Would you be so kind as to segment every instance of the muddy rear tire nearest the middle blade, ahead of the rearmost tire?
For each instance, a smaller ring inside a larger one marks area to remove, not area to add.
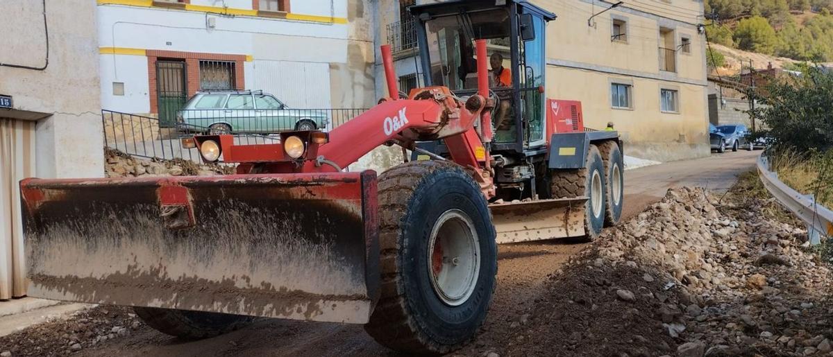
[[[586,236],[578,241],[593,241],[605,226],[605,167],[596,145],[587,151],[584,168],[551,170],[550,191],[552,198],[586,196],[584,231]],[[594,183],[595,181],[595,183]]]

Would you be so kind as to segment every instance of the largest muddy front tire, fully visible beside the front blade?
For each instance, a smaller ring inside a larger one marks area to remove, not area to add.
[[[412,161],[379,176],[382,296],[367,333],[407,354],[445,354],[486,320],[497,272],[491,213],[471,175]]]

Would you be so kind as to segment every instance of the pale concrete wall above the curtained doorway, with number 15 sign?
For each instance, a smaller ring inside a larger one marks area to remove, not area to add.
[[[37,121],[40,177],[103,175],[95,6],[46,0],[44,27],[41,1],[2,2],[0,63],[37,69],[0,66],[0,94],[14,102],[0,117]]]

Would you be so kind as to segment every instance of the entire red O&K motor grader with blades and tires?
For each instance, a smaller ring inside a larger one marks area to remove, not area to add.
[[[551,12],[521,0],[412,12],[426,87],[401,99],[383,47],[390,97],[330,132],[189,141],[235,175],[22,181],[29,294],[134,306],[183,338],[263,316],[365,324],[409,353],[466,344],[497,243],[589,240],[618,221],[621,142],[582,130],[578,103],[545,100]],[[490,49],[508,52],[512,86],[490,86]],[[493,130],[501,101],[509,125]],[[428,160],[344,170],[382,145]]]

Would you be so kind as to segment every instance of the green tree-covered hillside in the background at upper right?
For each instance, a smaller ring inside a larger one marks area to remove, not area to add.
[[[706,35],[713,43],[798,61],[833,61],[833,0],[706,0],[705,6]]]

